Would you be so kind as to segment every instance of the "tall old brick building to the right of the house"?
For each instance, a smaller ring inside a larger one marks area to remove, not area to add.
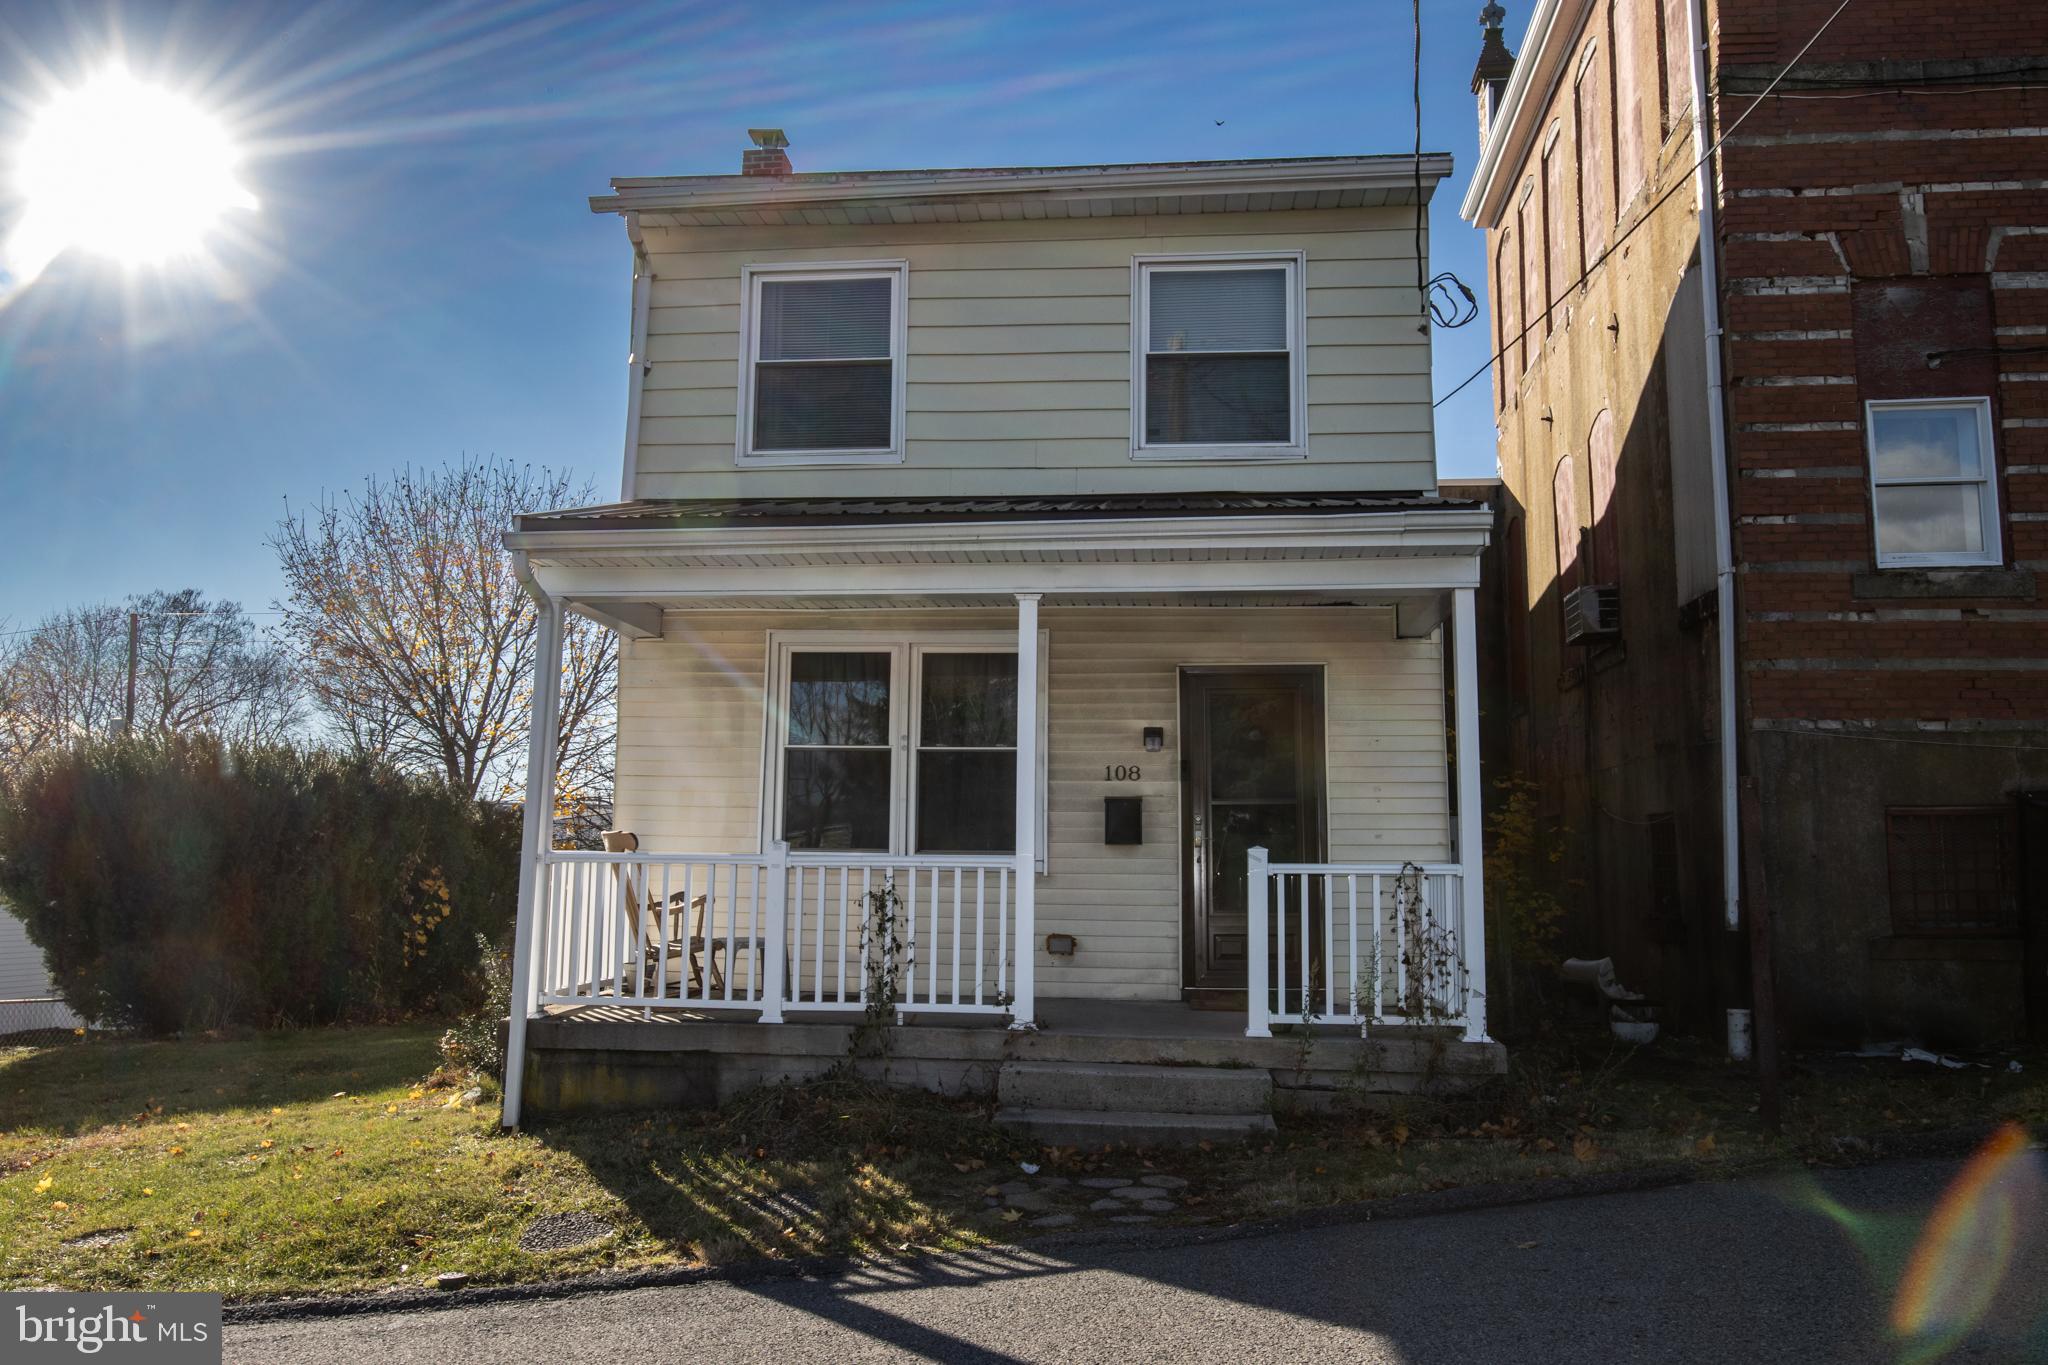
[[[1710,1025],[1763,921],[1794,1040],[2040,1029],[2048,29],[1483,23],[1507,729],[1569,831],[1567,948]]]

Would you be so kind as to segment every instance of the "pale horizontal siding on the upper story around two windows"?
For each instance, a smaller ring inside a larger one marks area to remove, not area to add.
[[[1137,256],[1300,252],[1309,458],[1262,489],[1436,485],[1430,342],[1407,209],[1204,213],[895,227],[662,227],[635,493],[729,497],[739,444],[741,272],[905,260],[905,446],[860,469],[748,460],[748,495],[1233,489],[1231,460],[1130,458]]]

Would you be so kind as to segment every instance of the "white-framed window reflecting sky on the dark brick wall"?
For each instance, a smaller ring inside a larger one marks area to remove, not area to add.
[[[1878,567],[1997,565],[1991,399],[1864,405]]]

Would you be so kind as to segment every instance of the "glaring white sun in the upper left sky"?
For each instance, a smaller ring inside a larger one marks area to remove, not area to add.
[[[225,215],[256,209],[240,164],[219,119],[109,68],[59,92],[29,125],[12,166],[23,211],[6,266],[29,280],[74,248],[123,266],[193,256]]]

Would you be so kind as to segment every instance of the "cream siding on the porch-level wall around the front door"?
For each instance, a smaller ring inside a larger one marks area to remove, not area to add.
[[[1047,663],[1049,847],[1040,997],[1180,995],[1180,667],[1325,665],[1329,849],[1337,860],[1450,853],[1442,657],[1384,608],[1055,608]],[[618,688],[618,827],[649,851],[756,851],[770,632],[1016,630],[1001,610],[670,612],[631,641]],[[1147,724],[1165,751],[1147,753]],[[1104,782],[1130,763],[1139,782]],[[1102,798],[1139,796],[1145,843],[1102,843]]]

